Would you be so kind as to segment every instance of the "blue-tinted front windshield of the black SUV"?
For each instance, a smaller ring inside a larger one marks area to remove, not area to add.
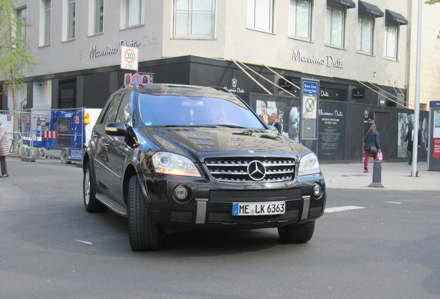
[[[213,126],[264,129],[262,122],[236,97],[204,98],[139,94],[140,122],[145,126]]]

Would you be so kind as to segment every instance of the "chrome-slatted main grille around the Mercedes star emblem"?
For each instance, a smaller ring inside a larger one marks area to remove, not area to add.
[[[253,161],[266,168],[266,175],[259,181],[248,173],[248,165]],[[291,181],[295,176],[293,158],[207,158],[205,164],[214,179],[223,182],[279,182]]]

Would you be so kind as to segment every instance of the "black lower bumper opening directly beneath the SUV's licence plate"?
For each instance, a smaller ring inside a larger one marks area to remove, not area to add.
[[[264,221],[285,221],[294,220],[300,217],[300,210],[287,210],[283,215],[266,215],[266,216],[232,216],[230,212],[210,212],[208,214],[208,222],[264,222]]]

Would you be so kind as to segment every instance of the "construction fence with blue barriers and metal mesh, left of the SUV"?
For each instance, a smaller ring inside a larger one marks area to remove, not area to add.
[[[0,111],[10,154],[26,159],[59,158],[82,163],[91,129],[101,109],[26,109]]]

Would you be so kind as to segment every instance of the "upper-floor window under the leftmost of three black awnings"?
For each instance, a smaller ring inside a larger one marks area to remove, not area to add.
[[[338,3],[327,3],[327,17],[325,18],[325,44],[344,47],[345,33],[345,6]]]

